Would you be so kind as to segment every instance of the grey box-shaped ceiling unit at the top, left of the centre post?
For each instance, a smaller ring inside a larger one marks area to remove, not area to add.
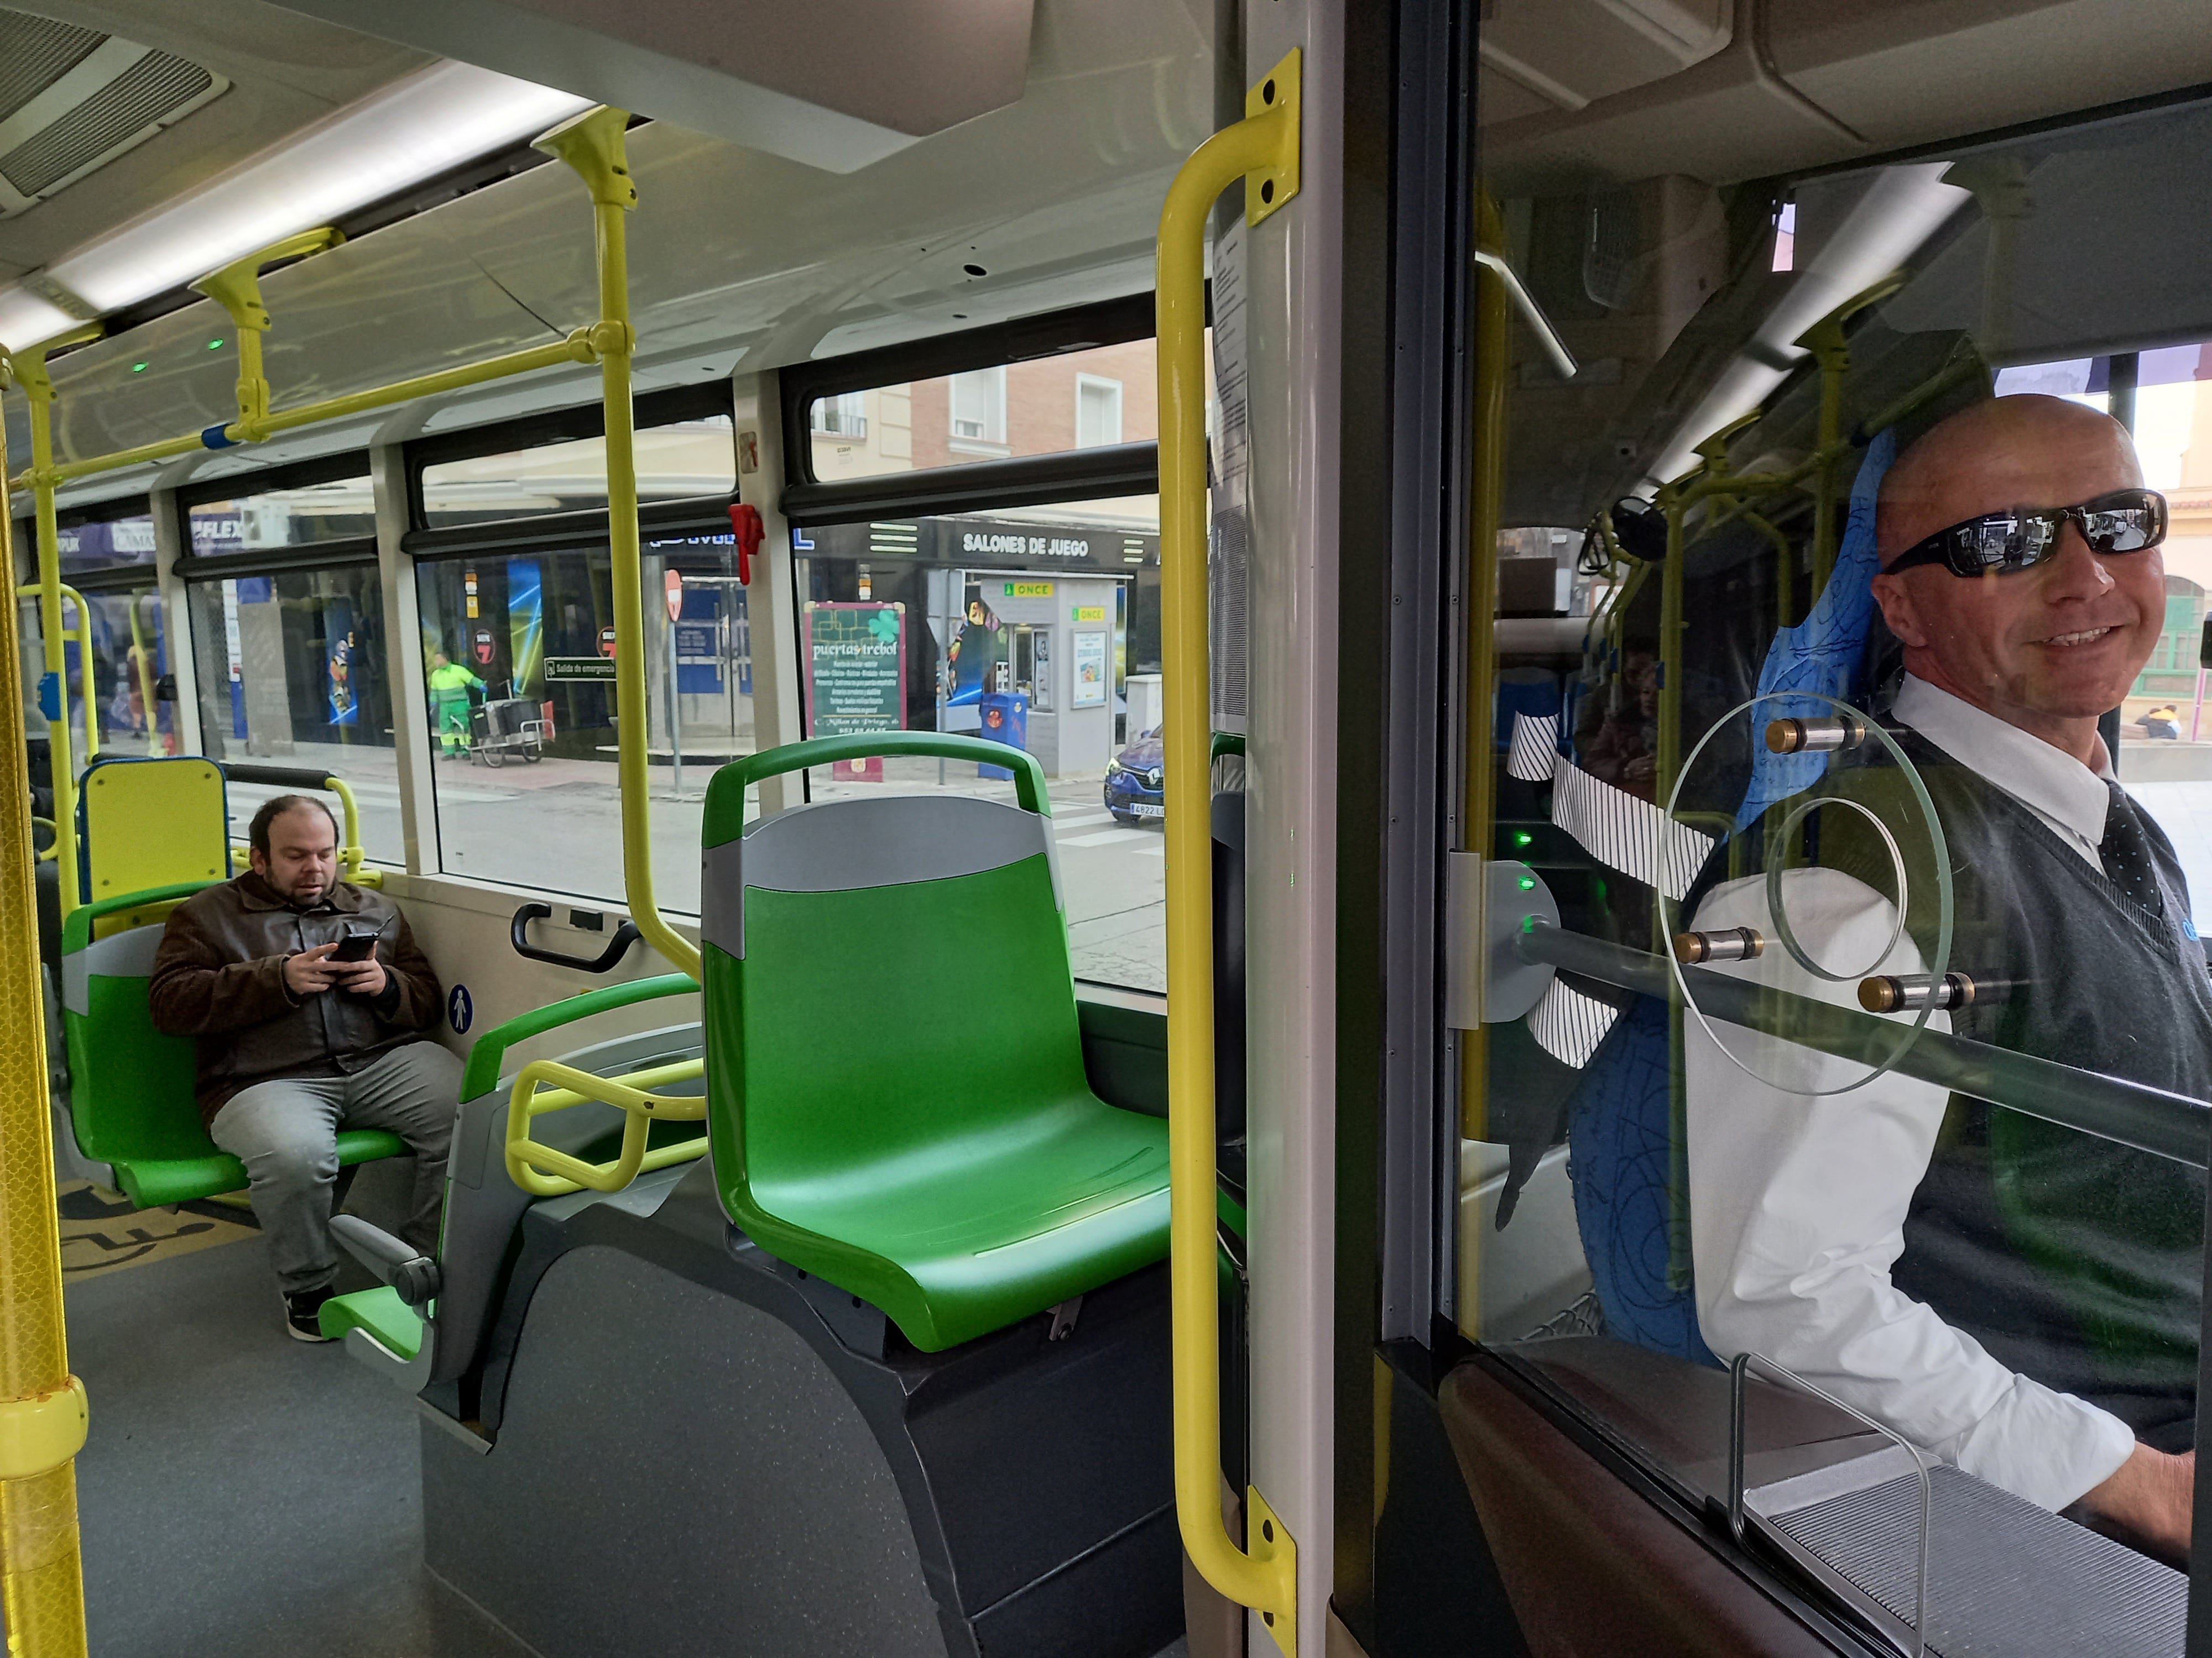
[[[356,0],[285,4],[827,172],[1020,99],[1035,13],[1035,0],[383,0],[374,18]]]

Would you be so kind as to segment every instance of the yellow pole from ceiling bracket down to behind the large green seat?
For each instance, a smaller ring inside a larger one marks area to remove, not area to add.
[[[661,920],[653,900],[653,800],[646,794],[646,612],[644,557],[637,537],[637,453],[630,411],[630,274],[624,214],[637,206],[637,186],[622,135],[630,117],[604,104],[562,122],[538,148],[557,155],[591,190],[599,263],[599,321],[591,343],[599,354],[599,398],[606,405],[606,533],[615,586],[615,721],[619,730],[615,776],[622,780],[622,880],[630,920],[646,944],[699,977],[699,951]]]

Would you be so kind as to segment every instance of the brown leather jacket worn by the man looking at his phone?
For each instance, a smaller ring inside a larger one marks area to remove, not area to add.
[[[288,955],[380,926],[385,990],[294,997]],[[270,1077],[343,1077],[400,1043],[422,1041],[445,1008],[429,959],[389,898],[338,882],[294,909],[259,875],[195,893],[170,911],[146,997],[155,1030],[199,1039],[199,1116]]]

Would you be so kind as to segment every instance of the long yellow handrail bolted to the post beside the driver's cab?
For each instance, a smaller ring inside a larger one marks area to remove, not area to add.
[[[1168,1163],[1175,1298],[1175,1512],[1192,1565],[1298,1651],[1298,1554],[1256,1488],[1245,1541],[1221,1523],[1214,1240],[1214,940],[1206,672],[1206,219],[1239,177],[1259,223],[1298,188],[1298,53],[1245,119],[1183,161],[1159,214],[1159,564],[1168,798]]]

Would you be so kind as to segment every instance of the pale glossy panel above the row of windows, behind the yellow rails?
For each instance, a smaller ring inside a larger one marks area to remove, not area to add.
[[[1128,33],[1172,53],[1133,60],[1110,31],[1040,29],[1018,104],[845,177],[672,124],[635,128],[641,378],[726,374],[741,351],[748,369],[805,360],[843,327],[914,338],[1141,287],[1159,197],[1210,128],[1212,69],[1183,0],[1144,0]],[[535,168],[270,272],[274,405],[591,321],[588,225],[575,179]],[[64,460],[230,418],[237,367],[219,316],[199,303],[55,358]],[[557,407],[591,393],[549,371],[502,387],[495,409],[453,402],[504,416],[531,396]],[[414,407],[380,431],[431,424],[449,420]]]

